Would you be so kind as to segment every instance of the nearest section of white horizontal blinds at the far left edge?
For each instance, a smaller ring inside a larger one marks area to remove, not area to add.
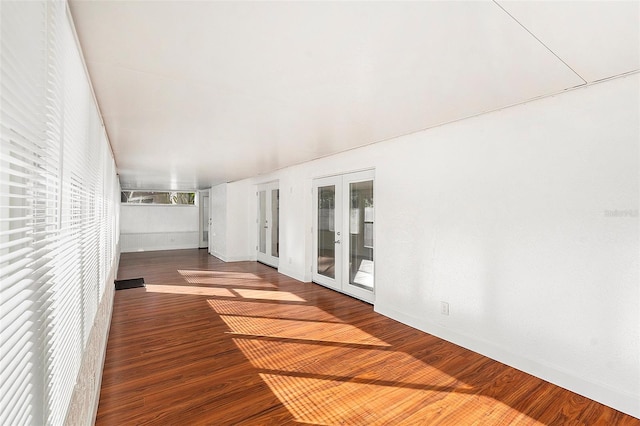
[[[37,193],[55,179],[49,171],[55,165],[43,161],[50,149],[44,126],[46,14],[36,2],[0,2],[0,14],[0,423],[33,424],[44,416],[40,354],[51,271],[51,247],[38,234],[38,225],[51,218]]]

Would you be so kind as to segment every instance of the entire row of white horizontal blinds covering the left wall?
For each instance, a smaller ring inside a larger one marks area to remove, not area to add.
[[[0,1],[0,424],[64,424],[120,187],[61,1]]]

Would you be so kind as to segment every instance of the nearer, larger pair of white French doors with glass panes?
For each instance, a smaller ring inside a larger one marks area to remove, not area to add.
[[[373,170],[313,182],[313,281],[371,303],[373,182]]]

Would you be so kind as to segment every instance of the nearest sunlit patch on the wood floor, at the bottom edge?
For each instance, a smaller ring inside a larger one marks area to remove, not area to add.
[[[541,425],[488,396],[260,373],[294,420],[314,425]],[[379,401],[388,401],[380,409]],[[458,407],[450,410],[449,407]],[[411,413],[411,414],[406,414]]]

